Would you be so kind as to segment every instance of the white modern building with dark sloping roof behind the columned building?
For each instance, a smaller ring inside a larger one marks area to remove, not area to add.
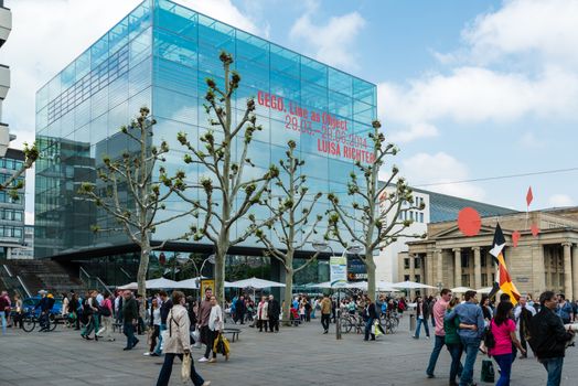
[[[395,187],[390,187],[393,191]],[[411,225],[407,228],[406,234],[410,235],[422,235],[428,233],[428,225],[440,222],[456,222],[458,219],[458,213],[464,207],[473,207],[481,216],[501,216],[506,214],[515,213],[515,211],[501,207],[496,205],[490,205],[472,200],[460,199],[447,194],[430,192],[421,189],[414,189],[414,206],[419,207],[421,203],[425,204],[425,208],[410,210],[402,213],[402,221],[410,219]],[[404,203],[403,207],[407,208],[408,203]],[[388,217],[388,222],[394,221],[392,216]],[[376,278],[377,280],[385,280],[390,282],[404,281],[407,279],[407,275],[403,274],[404,270],[410,268],[410,264],[416,264],[419,268],[419,260],[411,261],[410,259],[398,259],[400,253],[407,251],[408,242],[414,242],[415,238],[399,237],[397,242],[390,244],[379,253],[376,257]],[[399,264],[402,261],[402,265]],[[403,268],[402,268],[403,267]],[[400,271],[402,269],[402,271]],[[402,272],[402,274],[400,274]],[[425,278],[418,272],[411,276],[411,280],[421,281]]]

